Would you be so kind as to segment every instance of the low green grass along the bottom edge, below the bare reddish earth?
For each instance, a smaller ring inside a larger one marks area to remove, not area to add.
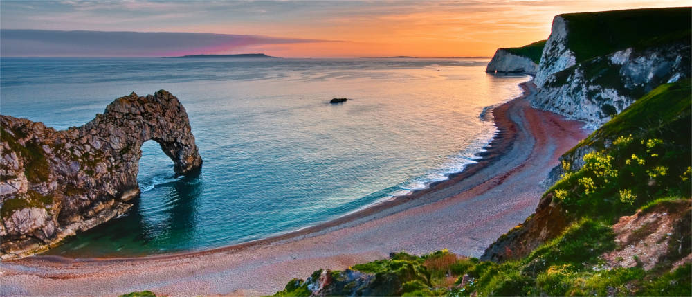
[[[370,287],[387,288],[377,291],[378,296],[470,296],[474,292],[478,296],[689,296],[689,264],[662,273],[640,267],[601,269],[604,262],[600,256],[616,247],[607,222],[585,218],[520,260],[487,262],[457,257],[448,251],[422,256],[397,253],[352,269],[374,275]],[[453,260],[439,261],[445,258]],[[343,279],[343,271],[331,273],[332,278]],[[457,280],[453,284],[428,281],[436,273]],[[470,281],[462,286],[464,274]],[[319,276],[320,271],[315,271],[311,278]],[[275,296],[310,296],[308,285],[293,279]],[[352,293],[329,291],[330,296]]]

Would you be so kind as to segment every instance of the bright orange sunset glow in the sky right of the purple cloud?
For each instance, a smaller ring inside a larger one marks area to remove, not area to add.
[[[546,39],[555,15],[630,8],[684,6],[686,1],[589,1],[466,7],[426,7],[413,12],[338,19],[187,26],[177,31],[261,34],[334,42],[246,46],[215,54],[265,53],[279,57],[490,57],[500,47]],[[528,9],[530,8],[530,9]],[[421,11],[424,10],[424,11]],[[170,30],[170,28],[169,28]]]

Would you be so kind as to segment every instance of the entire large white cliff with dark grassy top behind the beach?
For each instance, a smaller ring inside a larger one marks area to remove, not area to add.
[[[691,76],[691,17],[689,8],[556,16],[531,104],[603,125],[659,84]]]

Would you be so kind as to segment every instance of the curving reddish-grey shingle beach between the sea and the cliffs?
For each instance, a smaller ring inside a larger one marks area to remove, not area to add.
[[[34,256],[0,263],[0,295],[114,296],[150,290],[194,296],[273,294],[320,268],[406,251],[480,256],[533,213],[558,157],[588,131],[531,108],[525,95],[493,109],[500,132],[484,159],[447,181],[301,231],[221,249],[144,258]]]

